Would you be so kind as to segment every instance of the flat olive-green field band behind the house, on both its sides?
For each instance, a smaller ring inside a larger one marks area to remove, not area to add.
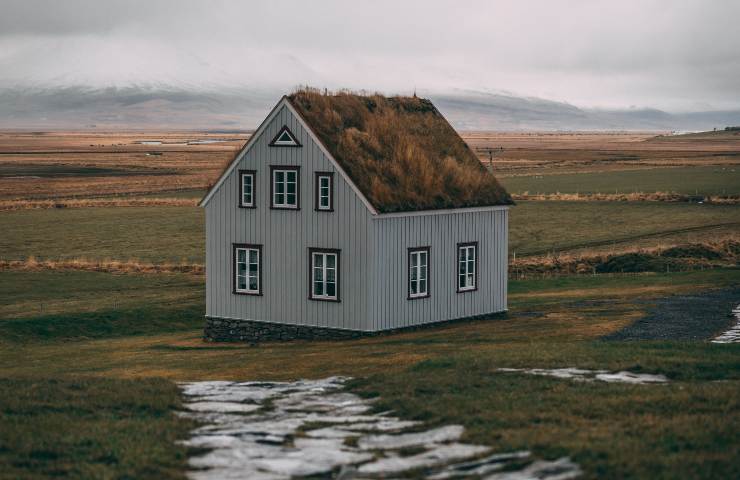
[[[0,212],[0,258],[203,263],[203,219],[203,210],[197,207]],[[740,206],[523,201],[511,208],[509,246],[523,255],[612,244],[697,241],[732,232],[740,232]]]

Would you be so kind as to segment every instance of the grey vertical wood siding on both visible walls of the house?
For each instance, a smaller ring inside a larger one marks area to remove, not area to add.
[[[287,125],[303,147],[270,147]],[[298,165],[300,210],[270,209],[270,165]],[[256,170],[256,208],[237,204],[238,170]],[[334,212],[314,211],[314,173],[335,172]],[[478,289],[457,293],[457,244],[479,242]],[[232,244],[262,247],[262,296],[232,292]],[[206,314],[385,330],[506,310],[508,209],[373,216],[285,106],[206,205]],[[408,255],[431,247],[430,296],[409,300]],[[341,250],[341,302],[308,299],[308,248]]]

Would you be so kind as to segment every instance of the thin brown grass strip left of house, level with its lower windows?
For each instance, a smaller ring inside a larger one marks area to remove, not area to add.
[[[86,258],[72,258],[68,260],[38,260],[29,257],[25,260],[2,260],[0,270],[85,270],[106,273],[190,273],[193,275],[205,274],[205,266],[187,263],[146,263],[136,259],[122,260],[90,260]]]

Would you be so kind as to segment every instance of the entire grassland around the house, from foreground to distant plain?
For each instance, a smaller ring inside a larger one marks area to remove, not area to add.
[[[203,212],[194,201],[246,137],[0,134],[0,200],[120,201],[0,211],[0,261],[23,260],[0,262],[0,478],[182,478],[194,452],[176,440],[193,425],[172,414],[181,408],[175,382],[328,375],[354,377],[350,388],[380,396],[378,409],[462,424],[466,441],[569,455],[585,478],[740,476],[740,345],[608,340],[672,298],[736,291],[736,264],[512,278],[506,315],[353,341],[250,346],[202,341],[202,274],[28,262],[201,265]],[[737,194],[736,177],[717,172],[737,171],[740,142],[687,137],[465,134],[484,164],[481,148],[504,146],[493,169],[515,192],[542,182],[555,192]],[[163,155],[146,155],[154,149]],[[191,203],[122,206],[134,198]],[[740,206],[520,201],[510,230],[517,258],[683,246],[737,238]],[[730,322],[711,320],[712,334]],[[584,383],[501,367],[630,370],[670,382]]]

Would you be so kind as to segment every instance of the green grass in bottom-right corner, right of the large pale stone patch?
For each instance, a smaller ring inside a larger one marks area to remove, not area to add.
[[[419,362],[400,373],[370,376],[358,388],[381,395],[377,408],[404,418],[462,423],[466,440],[497,451],[570,456],[585,469],[586,478],[737,478],[740,397],[730,392],[740,387],[738,353],[738,348],[721,351],[670,342],[636,348],[566,345],[546,353],[555,362],[539,352],[526,361],[499,352],[461,353]],[[668,386],[646,387],[495,371],[545,363],[689,373]],[[703,369],[694,368],[696,363]],[[707,377],[703,371],[712,374]]]

